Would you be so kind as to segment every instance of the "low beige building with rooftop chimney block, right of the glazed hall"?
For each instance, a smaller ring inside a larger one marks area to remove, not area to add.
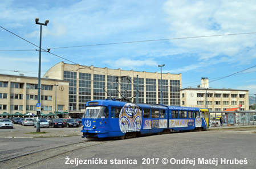
[[[218,112],[227,108],[249,110],[249,90],[209,88],[209,80],[204,77],[197,88],[181,89],[181,106],[208,108]]]

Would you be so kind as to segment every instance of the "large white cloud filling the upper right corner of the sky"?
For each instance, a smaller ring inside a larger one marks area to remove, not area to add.
[[[246,9],[246,10],[245,10]],[[253,1],[173,1],[164,5],[168,14],[170,37],[194,37],[255,32],[256,4]],[[245,60],[237,55],[255,46],[256,34],[216,36],[170,41],[188,52],[207,53],[199,60],[210,60],[225,55],[236,61]],[[256,56],[253,57],[254,59]]]

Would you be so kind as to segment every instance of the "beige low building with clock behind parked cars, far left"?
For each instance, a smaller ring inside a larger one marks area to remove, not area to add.
[[[54,86],[54,85],[58,86]],[[68,81],[41,79],[41,113],[55,112],[55,90],[57,89],[56,110],[59,117],[68,111]],[[0,114],[16,112],[36,114],[38,102],[38,78],[0,74]],[[67,115],[68,117],[68,115]]]

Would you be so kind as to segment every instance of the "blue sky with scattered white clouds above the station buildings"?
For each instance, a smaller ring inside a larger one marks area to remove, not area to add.
[[[42,48],[54,54],[42,52],[41,77],[60,61],[141,72],[165,64],[182,88],[208,77],[211,88],[256,94],[256,1],[0,2],[0,73],[38,77],[39,18],[50,20]]]

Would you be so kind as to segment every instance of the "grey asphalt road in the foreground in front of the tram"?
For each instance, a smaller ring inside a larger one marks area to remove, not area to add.
[[[100,144],[90,140],[90,145],[85,142],[79,150],[26,168],[255,168],[255,138],[255,128],[244,128],[151,135],[124,140],[106,139],[100,140]],[[86,139],[0,138],[0,153],[2,156],[22,151],[22,147],[33,151],[37,147],[43,149],[77,141]],[[3,147],[9,150],[5,151]],[[43,159],[44,156],[38,155],[37,158]],[[77,163],[79,160],[81,164]],[[13,159],[2,162],[0,168],[10,168],[15,162],[21,163],[19,158]],[[26,161],[22,163],[26,164]]]

